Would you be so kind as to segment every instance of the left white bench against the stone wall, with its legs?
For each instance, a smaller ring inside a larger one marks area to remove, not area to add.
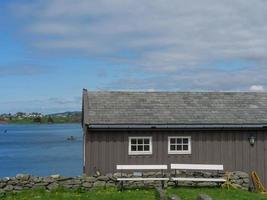
[[[143,173],[140,174],[138,177],[119,177],[117,181],[120,181],[121,189],[123,188],[123,181],[161,181],[162,187],[164,187],[164,181],[169,180],[169,178],[164,177],[164,170],[167,170],[167,165],[117,165],[117,170],[120,170],[121,176],[123,171],[134,171],[137,170],[138,172],[144,170],[150,171],[161,171],[161,177],[143,177]],[[134,174],[133,174],[134,175]]]

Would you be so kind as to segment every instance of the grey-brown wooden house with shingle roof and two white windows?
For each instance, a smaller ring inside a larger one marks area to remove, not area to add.
[[[223,164],[267,185],[267,93],[83,91],[84,173]]]

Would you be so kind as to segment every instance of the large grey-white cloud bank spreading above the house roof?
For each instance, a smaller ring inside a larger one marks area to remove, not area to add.
[[[115,88],[267,86],[263,0],[38,0],[13,9],[31,38],[28,44],[39,51],[71,52],[129,66],[127,78],[111,84]],[[212,66],[236,60],[252,64],[230,72]]]

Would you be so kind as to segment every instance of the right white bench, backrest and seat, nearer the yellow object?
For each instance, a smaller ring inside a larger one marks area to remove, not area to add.
[[[201,165],[201,164],[171,164],[171,170],[197,170],[197,171],[223,171],[223,165]],[[224,178],[195,178],[195,177],[172,177],[173,181],[192,181],[192,182],[218,182],[223,183]]]

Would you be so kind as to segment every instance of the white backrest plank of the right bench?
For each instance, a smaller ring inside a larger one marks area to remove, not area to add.
[[[171,169],[188,170],[223,170],[223,165],[201,165],[201,164],[171,164]]]

